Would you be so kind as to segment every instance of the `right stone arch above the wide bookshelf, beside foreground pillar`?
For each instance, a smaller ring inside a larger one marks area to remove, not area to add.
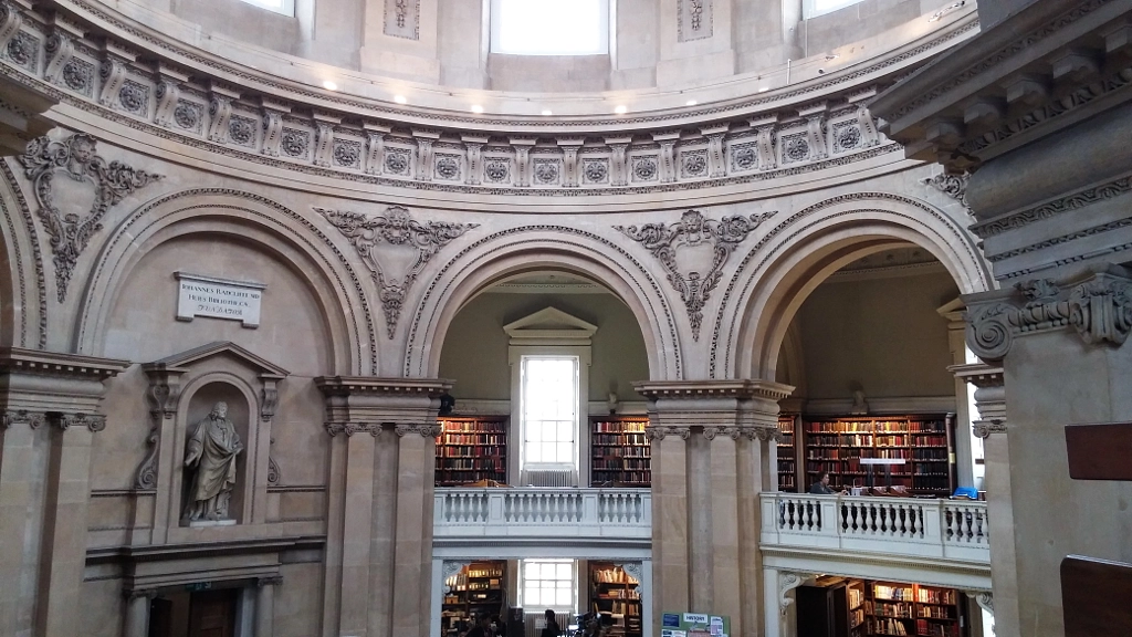
[[[887,193],[829,198],[782,221],[739,265],[717,320],[711,376],[773,380],[786,332],[806,297],[857,258],[906,244],[931,252],[961,294],[993,287],[971,236],[937,209]]]

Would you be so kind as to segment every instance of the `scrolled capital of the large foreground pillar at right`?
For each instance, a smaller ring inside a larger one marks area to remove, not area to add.
[[[1002,360],[1026,333],[1072,326],[1087,343],[1122,345],[1132,332],[1132,273],[1115,265],[964,300],[967,343],[984,360]]]

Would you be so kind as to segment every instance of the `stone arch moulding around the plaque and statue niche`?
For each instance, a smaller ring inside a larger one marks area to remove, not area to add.
[[[377,336],[361,280],[315,224],[290,209],[239,190],[198,188],[164,195],[131,212],[106,240],[82,299],[74,334],[82,354],[104,348],[106,322],[123,282],[147,253],[194,235],[228,236],[289,267],[316,299],[329,332],[328,373],[377,368]]]

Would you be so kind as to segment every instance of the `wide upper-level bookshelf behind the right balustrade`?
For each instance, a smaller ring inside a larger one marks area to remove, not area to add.
[[[804,419],[805,486],[830,473],[835,487],[866,486],[861,458],[902,459],[892,468],[892,485],[916,495],[950,495],[955,489],[950,416],[883,416]],[[796,436],[797,438],[797,436]],[[884,469],[873,472],[885,484]]]

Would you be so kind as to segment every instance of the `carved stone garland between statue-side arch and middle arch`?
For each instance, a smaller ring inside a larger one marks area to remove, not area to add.
[[[405,295],[432,255],[456,237],[479,226],[446,221],[421,223],[412,219],[409,211],[402,206],[389,206],[383,216],[366,216],[358,212],[321,207],[316,207],[315,211],[350,239],[361,255],[362,262],[369,267],[378,286],[378,297],[385,313],[385,328],[389,339],[397,329],[397,318],[401,316]],[[417,249],[417,261],[400,279],[383,267],[377,250],[381,244]]]

